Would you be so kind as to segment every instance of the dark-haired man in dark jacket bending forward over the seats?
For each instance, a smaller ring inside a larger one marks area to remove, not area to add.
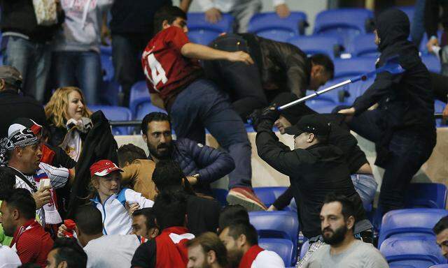
[[[225,34],[210,46],[225,51],[243,50],[255,61],[252,65],[204,61],[207,77],[228,92],[244,121],[253,110],[266,107],[281,92],[304,97],[307,89],[317,90],[335,72],[332,60],[325,54],[307,57],[295,45],[255,34]]]

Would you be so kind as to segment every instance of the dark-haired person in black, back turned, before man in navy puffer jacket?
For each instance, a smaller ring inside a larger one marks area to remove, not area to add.
[[[215,232],[218,228],[221,205],[211,198],[197,196],[174,161],[159,161],[153,173],[155,187],[160,193],[181,193],[187,200],[187,228],[195,235]]]

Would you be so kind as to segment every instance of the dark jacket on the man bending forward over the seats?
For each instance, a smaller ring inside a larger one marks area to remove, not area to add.
[[[288,43],[254,34],[240,35],[248,43],[263,86],[273,83],[281,91],[291,91],[299,98],[306,95],[311,75],[311,61],[307,54]]]

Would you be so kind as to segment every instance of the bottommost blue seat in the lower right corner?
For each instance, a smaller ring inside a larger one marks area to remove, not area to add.
[[[426,268],[447,263],[435,239],[429,237],[391,237],[381,244],[379,251],[390,265]]]

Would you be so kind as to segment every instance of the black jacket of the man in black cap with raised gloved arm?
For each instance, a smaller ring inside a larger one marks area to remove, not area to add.
[[[363,202],[351,182],[342,151],[330,144],[315,144],[291,151],[272,132],[273,124],[267,119],[258,125],[255,140],[258,156],[289,176],[304,236],[311,238],[321,234],[319,214],[328,193],[351,199],[356,207],[356,220],[365,220]]]

